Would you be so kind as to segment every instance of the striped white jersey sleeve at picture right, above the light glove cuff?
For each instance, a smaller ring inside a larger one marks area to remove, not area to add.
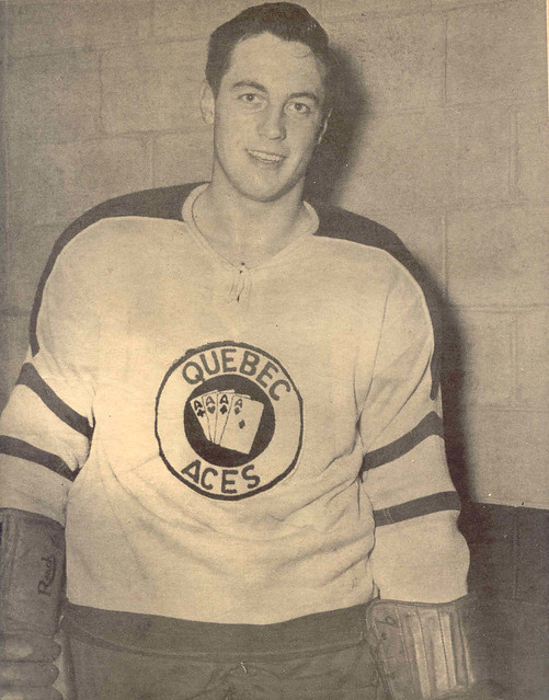
[[[467,544],[443,440],[423,295],[402,271],[387,297],[361,418],[363,484],[376,521],[371,570],[381,598],[446,603],[467,593]]]

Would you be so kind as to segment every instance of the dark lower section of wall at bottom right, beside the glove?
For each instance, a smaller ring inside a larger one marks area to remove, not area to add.
[[[502,700],[547,700],[549,512],[466,503],[460,528],[488,677],[506,690]]]

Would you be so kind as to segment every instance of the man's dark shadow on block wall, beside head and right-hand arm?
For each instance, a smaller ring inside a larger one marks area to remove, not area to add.
[[[368,128],[371,105],[353,57],[341,48],[335,49],[338,80],[334,108],[327,133],[309,167],[305,196],[309,200],[333,203],[353,172],[361,131]],[[362,213],[367,214],[367,213]],[[435,299],[441,310],[437,344],[443,348],[442,390],[446,452],[451,478],[464,501],[470,501],[467,481],[467,449],[462,423],[462,342],[457,317],[444,298],[434,276],[415,260],[414,276],[426,295]]]

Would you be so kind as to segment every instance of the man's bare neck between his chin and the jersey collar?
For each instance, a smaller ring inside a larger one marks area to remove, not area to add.
[[[301,194],[299,183],[274,202],[258,202],[214,177],[194,204],[195,223],[225,257],[252,266],[299,236],[298,223],[307,216]]]

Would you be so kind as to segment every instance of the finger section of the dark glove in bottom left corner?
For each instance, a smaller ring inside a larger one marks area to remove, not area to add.
[[[0,635],[0,700],[62,700],[54,688],[60,651],[52,639]]]

